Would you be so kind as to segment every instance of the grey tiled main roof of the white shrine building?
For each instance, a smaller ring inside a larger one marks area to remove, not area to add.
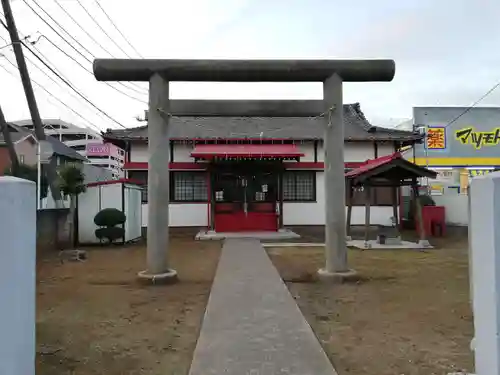
[[[172,101],[174,103],[175,101]],[[310,101],[320,104],[322,101]],[[361,111],[359,103],[345,104],[344,127],[346,141],[417,141],[422,136],[410,131],[373,126]],[[174,111],[172,111],[174,112]],[[322,116],[227,116],[174,115],[170,118],[170,137],[189,139],[323,139]],[[147,140],[147,126],[111,130],[103,133],[109,140]]]

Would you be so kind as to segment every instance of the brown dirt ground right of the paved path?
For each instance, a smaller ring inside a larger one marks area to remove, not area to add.
[[[339,375],[431,375],[473,369],[466,245],[350,250],[361,277],[342,285],[316,281],[321,248],[269,254]]]

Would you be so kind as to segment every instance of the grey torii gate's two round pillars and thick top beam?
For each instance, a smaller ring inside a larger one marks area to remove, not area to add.
[[[342,82],[391,81],[393,60],[156,60],[96,59],[98,81],[149,82],[147,269],[139,277],[167,282],[169,82],[323,82],[325,119],[325,268],[322,277],[352,275],[345,230]]]

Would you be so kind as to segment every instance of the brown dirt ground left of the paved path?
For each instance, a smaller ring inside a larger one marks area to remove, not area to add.
[[[86,262],[39,262],[39,375],[187,374],[220,254],[218,242],[172,239],[180,282],[142,286],[143,245],[93,248]]]

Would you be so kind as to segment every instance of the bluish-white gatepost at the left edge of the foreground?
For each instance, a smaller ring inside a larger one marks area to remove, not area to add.
[[[0,374],[35,374],[36,185],[0,177]]]

